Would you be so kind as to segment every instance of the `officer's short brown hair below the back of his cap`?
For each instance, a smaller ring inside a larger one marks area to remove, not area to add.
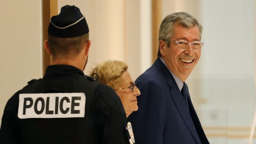
[[[89,33],[71,38],[55,37],[48,34],[48,44],[53,59],[56,57],[76,58],[88,41]]]

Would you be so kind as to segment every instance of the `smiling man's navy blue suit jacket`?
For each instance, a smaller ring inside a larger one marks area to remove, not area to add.
[[[136,84],[141,92],[137,97],[139,110],[128,117],[136,144],[209,143],[190,96],[189,113],[178,85],[159,58],[136,79]]]

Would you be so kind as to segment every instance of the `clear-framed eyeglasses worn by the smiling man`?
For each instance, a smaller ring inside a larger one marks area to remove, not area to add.
[[[193,43],[188,43],[187,41],[171,41],[171,42],[175,42],[181,51],[185,51],[188,48],[188,45],[191,44],[194,51],[198,52],[201,50],[201,48],[204,45],[203,42],[198,42],[198,41]]]

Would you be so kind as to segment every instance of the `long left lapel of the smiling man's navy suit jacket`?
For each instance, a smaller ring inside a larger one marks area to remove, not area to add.
[[[180,113],[180,116],[184,120],[185,124],[187,125],[190,133],[193,135],[196,142],[198,144],[201,144],[200,139],[196,132],[196,128],[195,128],[194,123],[189,114],[189,111],[187,108],[188,106],[185,104],[185,101],[181,95],[181,92],[180,92],[178,85],[176,84],[172,74],[170,73],[169,69],[166,68],[164,63],[159,58],[156,59],[154,65],[166,77],[166,83],[170,86],[170,93],[171,93],[172,99]]]

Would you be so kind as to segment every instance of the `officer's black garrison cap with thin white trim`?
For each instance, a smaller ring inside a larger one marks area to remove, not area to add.
[[[55,37],[76,37],[89,32],[85,16],[75,5],[65,5],[61,8],[60,14],[52,16],[48,34]]]

